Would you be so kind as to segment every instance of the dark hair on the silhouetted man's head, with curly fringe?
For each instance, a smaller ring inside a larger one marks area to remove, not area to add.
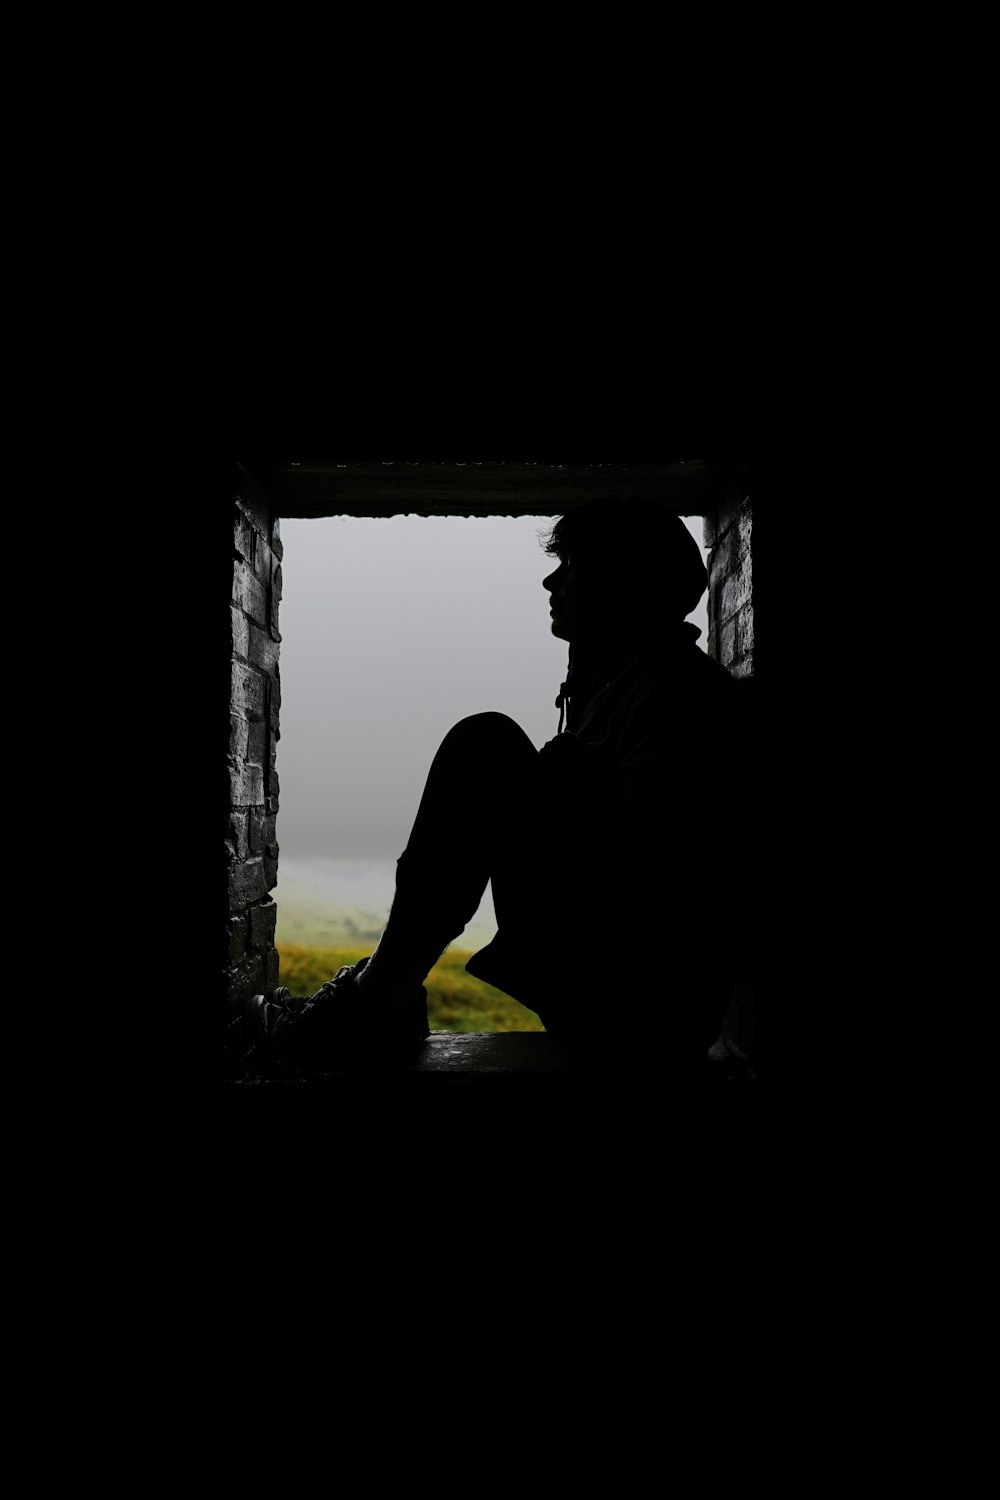
[[[666,609],[681,618],[708,588],[702,549],[681,518],[655,500],[586,501],[559,516],[543,544],[561,561],[576,552],[627,566],[637,579],[654,582]]]

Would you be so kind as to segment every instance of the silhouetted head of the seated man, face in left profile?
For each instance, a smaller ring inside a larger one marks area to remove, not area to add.
[[[543,586],[564,640],[633,638],[679,624],[708,588],[697,542],[652,500],[594,500],[561,516],[546,542],[559,560]]]

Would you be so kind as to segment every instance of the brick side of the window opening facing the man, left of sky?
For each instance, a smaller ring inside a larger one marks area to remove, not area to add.
[[[277,884],[280,597],[277,516],[253,480],[237,468],[229,600],[229,813],[225,830],[229,1010],[240,996],[277,984],[277,908],[270,891]]]

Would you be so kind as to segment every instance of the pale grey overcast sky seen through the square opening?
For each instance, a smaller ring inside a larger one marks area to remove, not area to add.
[[[466,714],[499,710],[537,746],[552,740],[568,650],[541,586],[552,520],[282,520],[282,858],[396,860],[433,753]],[[706,556],[702,520],[685,525]],[[705,646],[708,596],[688,618]]]

